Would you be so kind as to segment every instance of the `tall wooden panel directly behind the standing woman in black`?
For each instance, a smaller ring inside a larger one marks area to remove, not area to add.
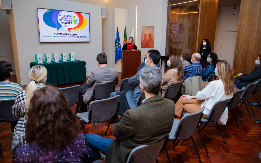
[[[200,0],[198,16],[198,32],[196,53],[200,50],[200,44],[207,38],[213,52],[217,22],[218,0]]]

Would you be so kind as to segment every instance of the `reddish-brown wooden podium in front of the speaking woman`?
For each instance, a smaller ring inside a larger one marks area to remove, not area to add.
[[[122,79],[132,77],[140,67],[140,50],[121,50]]]

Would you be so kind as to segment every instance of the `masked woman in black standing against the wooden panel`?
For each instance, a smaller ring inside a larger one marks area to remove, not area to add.
[[[211,52],[211,47],[208,39],[204,39],[200,45],[199,54],[201,55],[200,64],[202,66],[202,69],[205,68],[207,62],[207,56],[209,56],[209,53]]]

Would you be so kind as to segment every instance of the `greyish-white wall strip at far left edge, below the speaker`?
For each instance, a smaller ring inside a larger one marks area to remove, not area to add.
[[[9,16],[4,10],[1,10],[0,12],[0,61],[10,62],[14,70],[13,75],[15,75],[15,62]]]

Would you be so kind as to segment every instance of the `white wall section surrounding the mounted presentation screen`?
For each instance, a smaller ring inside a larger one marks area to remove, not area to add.
[[[96,56],[102,52],[101,6],[65,0],[13,0],[10,28],[13,43],[17,82],[29,83],[30,62],[35,54],[75,52],[75,59],[86,62],[86,75],[98,69]],[[90,13],[89,43],[39,43],[37,7]],[[25,19],[30,18],[30,21]]]

